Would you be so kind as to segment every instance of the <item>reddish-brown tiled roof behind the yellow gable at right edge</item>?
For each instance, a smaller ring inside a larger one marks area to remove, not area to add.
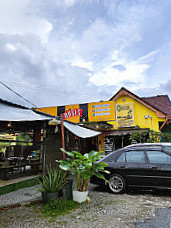
[[[168,114],[171,119],[171,102],[167,95],[157,95],[154,97],[141,97],[142,100],[159,109],[160,111]]]

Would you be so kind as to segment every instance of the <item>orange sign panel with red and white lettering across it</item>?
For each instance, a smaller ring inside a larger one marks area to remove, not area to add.
[[[74,123],[79,123],[80,122],[80,116],[81,112],[79,111],[79,104],[76,105],[66,105],[65,106],[65,112],[66,112],[66,117],[64,116],[64,119],[74,122]],[[68,112],[70,113],[71,111],[71,115],[68,115]],[[74,113],[74,115],[72,115],[72,113]]]

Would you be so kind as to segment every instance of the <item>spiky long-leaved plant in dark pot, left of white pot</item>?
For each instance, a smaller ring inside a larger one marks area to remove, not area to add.
[[[66,173],[61,168],[48,168],[47,174],[40,174],[39,189],[42,192],[42,202],[49,203],[52,198],[58,198],[60,190],[65,185]]]

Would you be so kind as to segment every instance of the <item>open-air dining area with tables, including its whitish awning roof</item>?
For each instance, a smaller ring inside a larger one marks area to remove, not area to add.
[[[3,100],[0,107],[0,180],[41,172],[44,126],[50,118]]]

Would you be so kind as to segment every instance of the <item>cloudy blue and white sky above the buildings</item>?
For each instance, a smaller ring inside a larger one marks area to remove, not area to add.
[[[170,0],[0,0],[0,98],[32,107],[171,98]]]

